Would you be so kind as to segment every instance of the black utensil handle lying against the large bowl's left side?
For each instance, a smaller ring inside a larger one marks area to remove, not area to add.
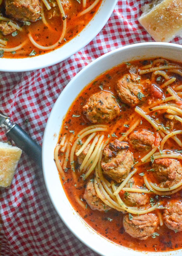
[[[24,130],[15,124],[6,135],[42,168],[42,148]]]

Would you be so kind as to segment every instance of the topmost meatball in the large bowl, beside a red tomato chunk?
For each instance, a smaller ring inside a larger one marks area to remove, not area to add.
[[[140,102],[142,86],[136,81],[137,76],[125,74],[116,85],[119,98],[130,106],[136,106]]]

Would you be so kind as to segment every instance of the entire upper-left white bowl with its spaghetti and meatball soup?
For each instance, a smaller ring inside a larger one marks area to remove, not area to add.
[[[116,0],[0,1],[0,71],[59,63],[103,28]]]

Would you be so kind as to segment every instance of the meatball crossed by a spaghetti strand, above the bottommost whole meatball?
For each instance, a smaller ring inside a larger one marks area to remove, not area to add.
[[[130,179],[129,182],[126,184],[126,188],[130,188],[130,185],[132,184],[132,188],[137,188],[137,186],[134,184],[134,180]],[[121,199],[126,203],[128,206],[140,206],[145,205],[149,202],[148,195],[144,193],[136,193],[136,192],[125,192]]]

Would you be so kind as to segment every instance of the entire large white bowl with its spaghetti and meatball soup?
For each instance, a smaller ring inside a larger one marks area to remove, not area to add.
[[[49,196],[100,255],[182,254],[181,50],[139,43],[107,53],[69,82],[49,116]]]

